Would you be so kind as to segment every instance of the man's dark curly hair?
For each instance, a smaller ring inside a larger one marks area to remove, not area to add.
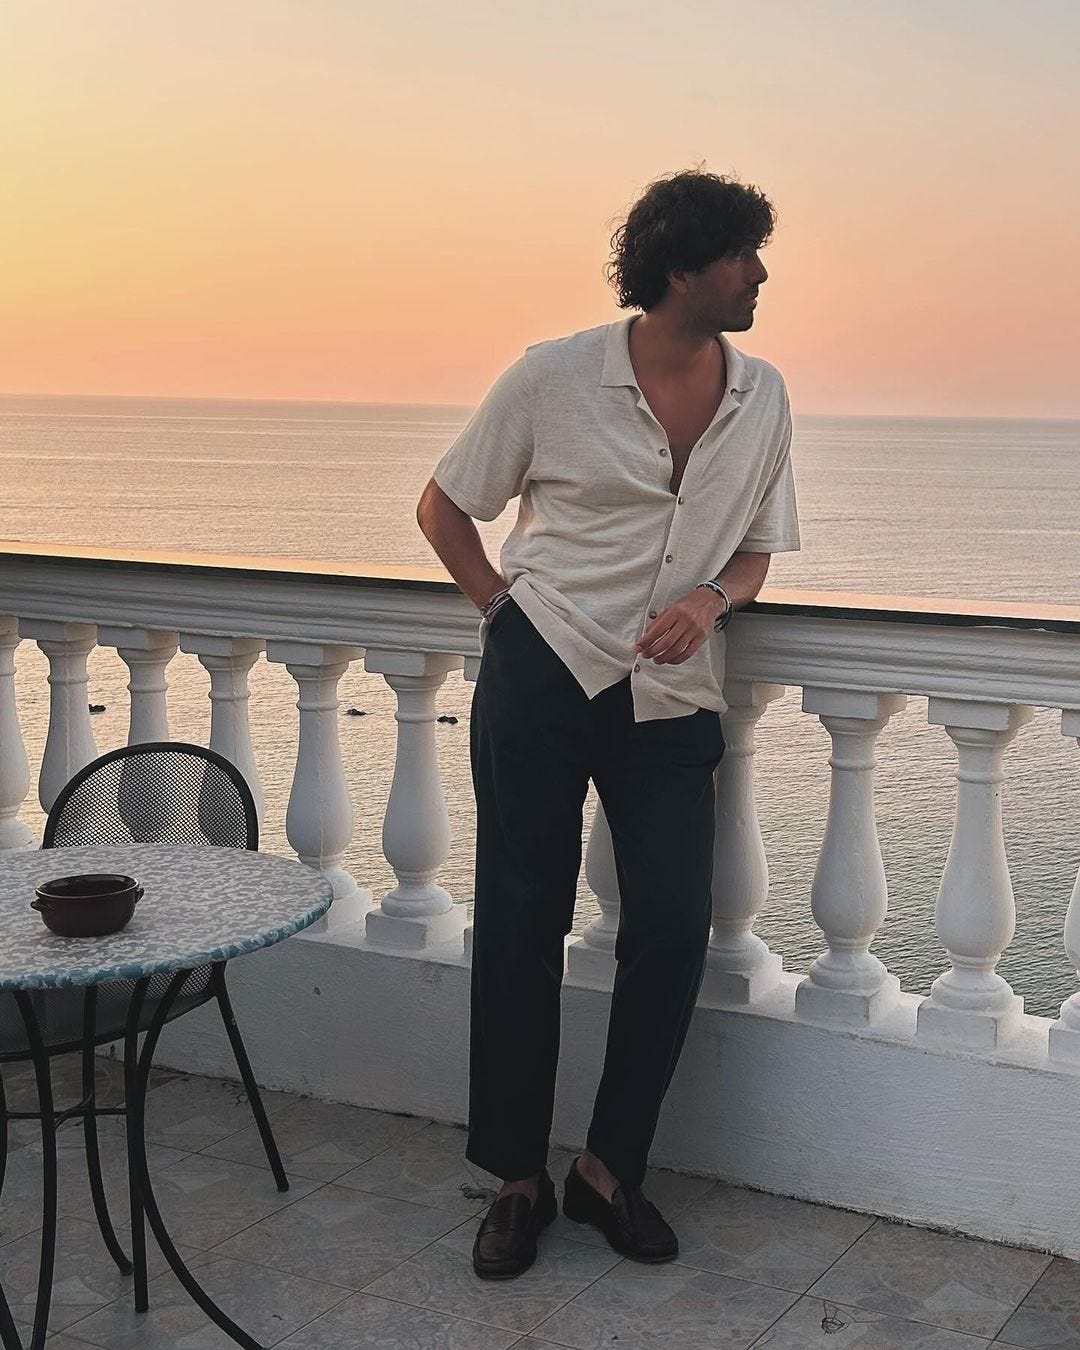
[[[772,202],[752,184],[693,169],[657,178],[612,235],[606,275],[620,309],[652,309],[667,293],[668,273],[761,248],[775,225]]]

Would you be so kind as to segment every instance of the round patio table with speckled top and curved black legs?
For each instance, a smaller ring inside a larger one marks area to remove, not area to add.
[[[57,937],[30,907],[42,882],[84,872],[123,872],[144,890],[127,927],[108,937]],[[43,1154],[42,1253],[31,1350],[45,1345],[51,1301],[57,1231],[57,1125],[84,1114],[85,1103],[57,1112],[53,1106],[50,1054],[38,1010],[50,991],[76,990],[108,981],[131,981],[127,1008],[128,1040],[135,1044],[139,1015],[153,976],[170,976],[167,988],[146,1027],[138,1053],[134,1095],[119,1111],[134,1139],[136,1172],[132,1218],[146,1215],[150,1228],[180,1282],[202,1311],[246,1350],[259,1343],[228,1318],[184,1264],[154,1199],[146,1160],[146,1091],[150,1066],[169,1010],[189,975],[284,941],[321,918],[331,906],[329,882],[315,868],[270,853],[239,848],[173,844],[94,845],[54,848],[0,859],[0,998],[12,996],[27,1034],[28,1058],[38,1087]],[[5,994],[4,991],[8,991]],[[47,1011],[47,1010],[46,1010]],[[4,1122],[27,1112],[8,1112]],[[7,1157],[4,1123],[0,1150],[0,1188]],[[99,1214],[99,1224],[101,1215]],[[103,1226],[103,1234],[105,1227]],[[112,1249],[111,1249],[112,1250]],[[139,1280],[136,1311],[146,1307],[146,1268]],[[142,1285],[142,1291],[140,1291]],[[142,1307],[139,1307],[142,1304]],[[22,1350],[7,1297],[0,1291],[0,1341],[5,1350]]]

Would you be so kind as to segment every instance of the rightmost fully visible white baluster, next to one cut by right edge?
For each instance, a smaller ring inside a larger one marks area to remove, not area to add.
[[[1002,833],[1002,756],[1031,716],[1022,705],[930,699],[930,722],[957,748],[959,790],[937,896],[937,934],[950,967],[919,1004],[919,1040],[994,1049],[1019,1029],[1023,999],[995,971],[1017,926]]]

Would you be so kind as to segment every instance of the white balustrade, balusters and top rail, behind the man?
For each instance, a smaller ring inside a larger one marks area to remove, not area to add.
[[[194,578],[188,562],[182,574],[170,567],[155,563],[139,571],[135,585],[115,562],[78,559],[61,567],[55,558],[20,555],[5,574],[4,608],[31,616],[19,621],[18,633],[36,640],[50,663],[42,805],[47,809],[59,787],[96,755],[86,706],[86,656],[94,640],[115,647],[128,667],[128,740],[169,737],[165,676],[176,628],[181,648],[196,653],[209,674],[211,745],[244,774],[262,815],[248,672],[263,647],[251,634],[273,632],[270,659],[284,663],[296,680],[300,709],[286,832],[297,855],[331,876],[339,902],[336,926],[362,919],[366,941],[385,949],[452,945],[463,932],[464,910],[437,882],[450,849],[450,818],[437,764],[435,699],[451,670],[463,668],[464,678],[474,679],[481,668],[473,612],[452,587],[440,587],[435,574],[431,589],[417,591],[412,580],[400,590],[385,578],[371,587],[363,576],[355,586],[342,586],[340,575],[328,583],[310,571],[258,579],[244,560],[235,568],[208,563]],[[930,721],[945,726],[957,747],[959,794],[937,902],[937,932],[949,968],[919,1004],[917,1034],[963,1048],[1007,1045],[1022,1000],[996,972],[1015,923],[1000,822],[1002,755],[1031,716],[1030,705],[1069,706],[1080,683],[1080,643],[1066,632],[1010,630],[968,618],[950,622],[948,614],[913,628],[865,613],[845,614],[842,597],[825,601],[818,598],[817,609],[811,605],[794,616],[768,613],[765,605],[744,616],[732,641],[728,748],[717,771],[713,934],[701,1002],[752,1004],[783,983],[780,956],[753,932],[768,895],[753,791],[755,736],[757,720],[784,684],[803,684],[803,709],[821,717],[833,749],[829,817],[810,894],[828,950],[798,984],[796,1013],[859,1027],[872,1026],[894,1004],[898,981],[871,956],[888,903],[873,817],[873,749],[886,720],[903,703],[892,691],[926,691]],[[92,622],[97,617],[105,620],[100,630]],[[244,636],[225,636],[231,632]],[[370,891],[342,865],[352,814],[338,740],[338,682],[362,652],[343,644],[359,639],[367,648],[367,670],[386,678],[398,703],[397,757],[382,832],[397,884],[370,911]],[[427,641],[466,655],[424,652]],[[15,717],[16,644],[16,622],[0,621],[0,849],[30,842],[18,819],[28,770]],[[1080,711],[1064,714],[1062,730],[1080,740]],[[582,983],[609,987],[620,906],[602,807],[585,871],[599,917],[570,942],[567,967]],[[1065,948],[1080,971],[1080,876]],[[1050,1029],[1050,1053],[1080,1064],[1080,992],[1065,1000]]]

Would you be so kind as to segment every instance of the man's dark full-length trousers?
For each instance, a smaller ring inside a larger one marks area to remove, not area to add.
[[[641,1184],[705,972],[720,714],[634,722],[630,679],[589,699],[509,601],[485,639],[470,718],[477,796],[468,1143],[516,1181],[547,1165],[563,940],[591,778],[621,910],[603,1075],[586,1146]]]

